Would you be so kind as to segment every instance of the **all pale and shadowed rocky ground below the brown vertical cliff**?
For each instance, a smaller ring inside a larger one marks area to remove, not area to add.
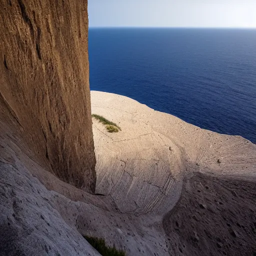
[[[98,255],[82,235],[127,255],[253,255],[255,144],[124,96],[92,91],[91,102],[121,128],[93,120],[98,195],[59,180],[22,141],[1,143],[1,255]]]

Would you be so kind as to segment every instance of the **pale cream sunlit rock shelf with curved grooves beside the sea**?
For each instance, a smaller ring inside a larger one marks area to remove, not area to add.
[[[256,180],[256,146],[240,136],[200,129],[121,95],[91,91],[91,102],[92,113],[121,128],[109,133],[93,120],[96,193],[111,195],[123,213],[166,214],[193,172]]]

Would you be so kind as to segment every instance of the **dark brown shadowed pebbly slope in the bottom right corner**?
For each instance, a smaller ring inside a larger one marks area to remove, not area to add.
[[[163,219],[170,253],[254,255],[255,188],[255,182],[200,173],[187,179],[178,203]]]

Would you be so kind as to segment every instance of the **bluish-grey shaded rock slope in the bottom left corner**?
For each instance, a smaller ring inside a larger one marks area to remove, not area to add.
[[[100,255],[65,222],[56,207],[62,198],[26,167],[0,161],[0,255]],[[65,206],[76,209],[66,198]]]

